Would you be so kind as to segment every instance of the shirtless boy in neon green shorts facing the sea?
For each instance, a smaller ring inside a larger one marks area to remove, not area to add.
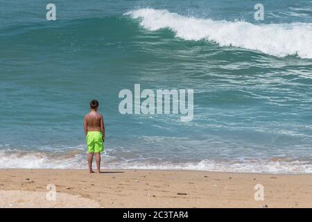
[[[94,171],[92,171],[92,160],[94,153],[96,154],[97,172],[101,173],[101,152],[104,151],[103,142],[105,140],[105,127],[103,116],[98,113],[97,100],[92,100],[90,102],[90,112],[85,115],[84,128],[89,152],[89,173],[94,173]]]

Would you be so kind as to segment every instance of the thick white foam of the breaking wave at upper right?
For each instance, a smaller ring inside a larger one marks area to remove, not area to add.
[[[261,51],[270,56],[312,58],[312,24],[262,24],[185,17],[168,10],[142,8],[125,13],[150,31],[169,28],[184,40],[208,40],[220,46]]]

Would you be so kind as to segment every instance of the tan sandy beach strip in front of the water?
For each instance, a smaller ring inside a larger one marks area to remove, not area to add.
[[[0,207],[312,207],[312,175],[1,169]]]

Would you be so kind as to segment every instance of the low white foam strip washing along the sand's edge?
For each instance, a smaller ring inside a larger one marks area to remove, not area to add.
[[[103,155],[106,169],[184,169],[196,171],[245,173],[312,173],[311,160],[202,160],[198,162],[166,162],[157,158],[126,159]],[[87,153],[0,151],[0,169],[87,169]]]

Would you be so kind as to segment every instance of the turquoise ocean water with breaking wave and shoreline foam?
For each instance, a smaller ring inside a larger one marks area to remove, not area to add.
[[[98,99],[103,167],[312,173],[312,3],[1,1],[0,168],[86,168]],[[194,89],[194,119],[122,115],[121,89]]]

